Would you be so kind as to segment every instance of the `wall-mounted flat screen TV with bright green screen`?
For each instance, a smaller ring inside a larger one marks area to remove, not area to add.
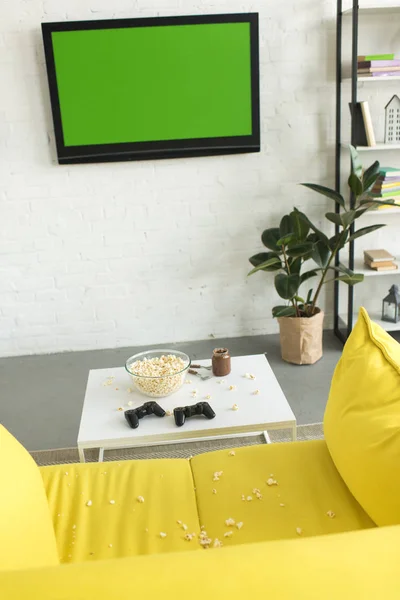
[[[258,152],[258,15],[43,23],[60,163]]]

